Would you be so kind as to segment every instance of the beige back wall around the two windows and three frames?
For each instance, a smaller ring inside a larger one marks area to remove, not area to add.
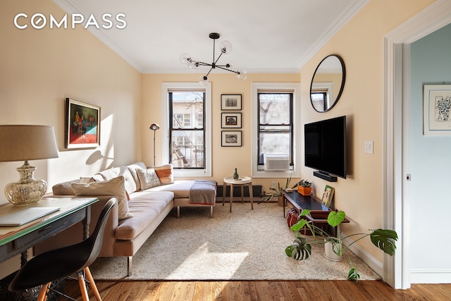
[[[152,165],[153,132],[152,123],[161,124],[161,83],[197,82],[199,74],[144,74],[142,75],[142,121],[145,131],[142,134],[142,159]],[[238,80],[233,73],[214,73],[211,81],[212,114],[212,162],[211,179],[222,183],[225,176],[232,176],[235,167],[242,176],[251,175],[251,97],[252,82],[300,82],[299,74],[250,74],[247,80]],[[221,147],[221,94],[242,94],[242,147]],[[156,132],[156,164],[161,162],[161,131]],[[272,180],[254,179],[252,183],[263,185],[268,191]],[[294,183],[294,182],[293,182]]]

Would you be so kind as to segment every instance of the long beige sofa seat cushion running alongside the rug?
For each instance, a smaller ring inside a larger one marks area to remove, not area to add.
[[[138,191],[130,195],[128,205],[132,219],[119,222],[115,237],[118,240],[131,240],[144,231],[163,209],[173,202],[174,194],[169,191],[149,192]]]

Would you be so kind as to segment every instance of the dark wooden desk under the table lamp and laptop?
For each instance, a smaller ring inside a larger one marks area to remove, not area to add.
[[[34,207],[60,207],[61,209],[30,223],[16,227],[0,227],[0,262],[22,253],[21,264],[27,261],[26,251],[75,223],[82,221],[83,237],[89,236],[91,204],[97,197],[44,197]],[[12,204],[0,206],[0,212],[11,211]]]

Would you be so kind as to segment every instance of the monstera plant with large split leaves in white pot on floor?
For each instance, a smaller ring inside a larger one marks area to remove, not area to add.
[[[299,217],[307,216],[309,214],[310,210],[304,209],[299,214]],[[326,254],[325,250],[326,257],[330,257],[333,260],[340,260],[340,257],[342,257],[342,254],[346,249],[348,249],[355,242],[366,238],[366,236],[369,236],[371,242],[373,242],[373,245],[383,250],[383,252],[389,254],[390,256],[395,254],[395,242],[397,241],[396,231],[388,229],[376,229],[369,230],[369,233],[354,233],[342,238],[338,226],[340,226],[340,223],[345,220],[345,217],[345,211],[330,211],[330,213],[328,214],[327,223],[335,228],[335,232],[337,233],[336,237],[329,235],[326,231],[323,231],[323,229],[315,226],[311,221],[307,221],[307,219],[300,219],[297,223],[295,223],[295,225],[290,228],[295,232],[295,240],[292,245],[286,247],[285,253],[289,257],[293,257],[296,260],[304,260],[309,258],[311,254],[312,243],[323,243],[325,247],[327,245],[327,247],[330,248],[333,254],[337,255],[337,258],[335,258],[332,253]],[[314,240],[307,241],[306,238],[302,237],[299,231],[304,228],[304,226],[307,226],[310,229]],[[320,235],[322,239],[316,240],[316,235]],[[353,240],[349,245],[344,244],[343,240],[354,236],[359,236],[359,238],[357,238],[357,240]],[[357,273],[357,270],[354,268],[351,269],[348,274],[348,279],[357,281],[359,280],[359,278],[360,275]]]

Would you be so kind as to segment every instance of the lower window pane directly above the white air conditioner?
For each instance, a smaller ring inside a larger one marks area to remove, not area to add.
[[[263,154],[283,153],[290,155],[291,134],[279,132],[260,133],[259,164],[264,164]],[[290,161],[292,161],[290,159]]]

